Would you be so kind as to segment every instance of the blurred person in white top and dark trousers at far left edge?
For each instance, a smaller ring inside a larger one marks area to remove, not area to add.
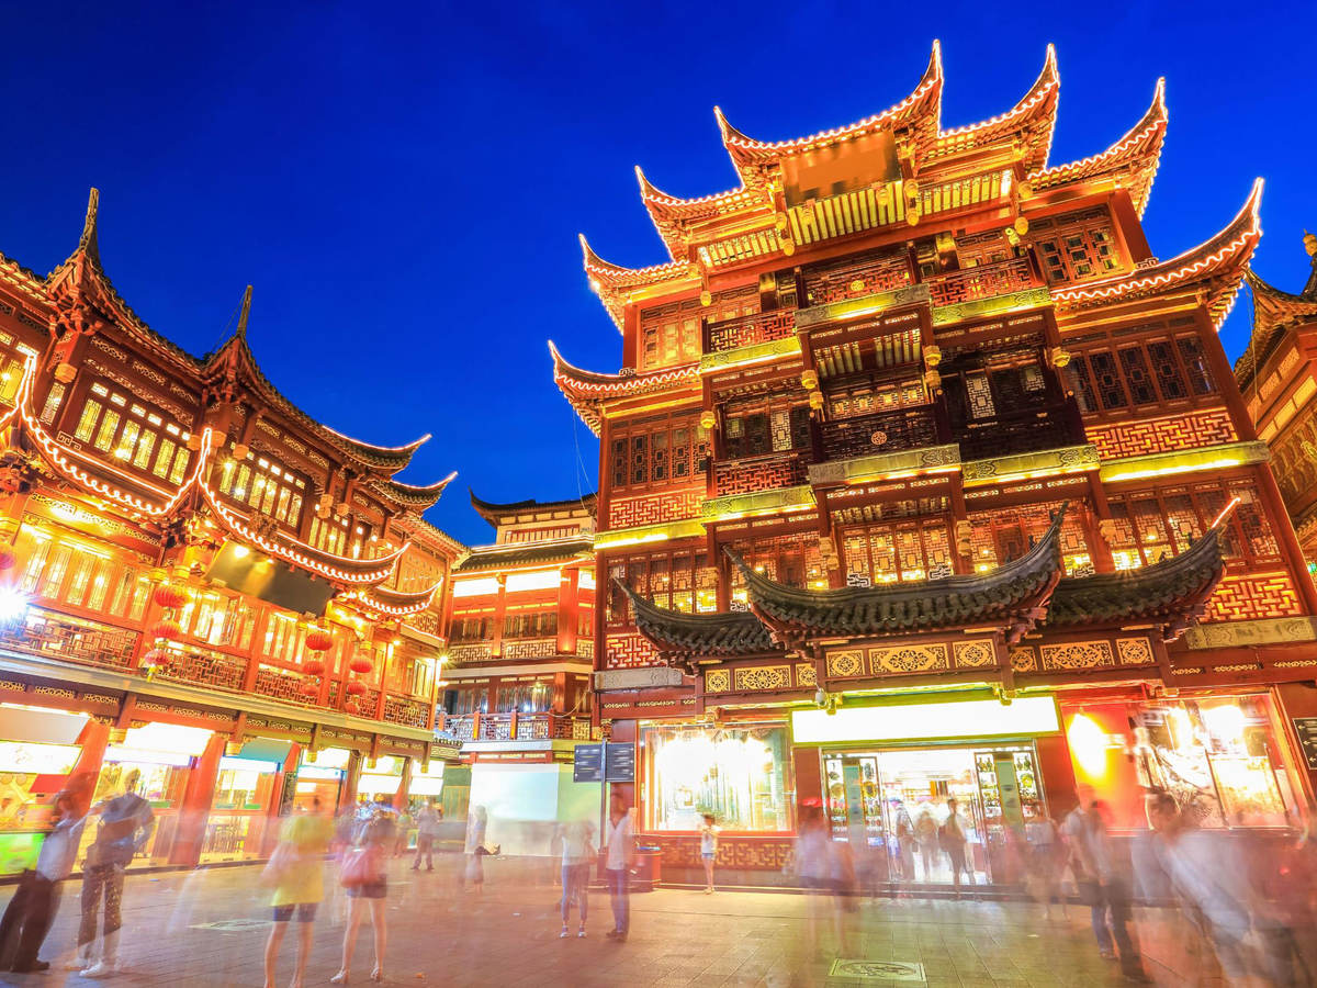
[[[54,827],[41,844],[36,868],[20,876],[18,888],[0,919],[0,945],[8,943],[11,935],[17,939],[8,968],[14,974],[50,968],[50,962],[40,960],[37,954],[59,909],[59,885],[74,869],[86,822],[87,815],[78,811],[72,794],[62,792],[55,797]]]

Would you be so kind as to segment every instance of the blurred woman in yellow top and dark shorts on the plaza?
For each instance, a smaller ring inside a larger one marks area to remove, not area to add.
[[[274,988],[274,967],[288,921],[298,914],[298,962],[290,988],[302,988],[311,956],[311,933],[316,906],[324,898],[324,856],[333,837],[333,823],[320,813],[320,797],[312,797],[312,811],[291,817],[279,834],[279,846],[270,856],[269,881],[274,885],[270,905],[274,926],[265,943],[265,988]]]

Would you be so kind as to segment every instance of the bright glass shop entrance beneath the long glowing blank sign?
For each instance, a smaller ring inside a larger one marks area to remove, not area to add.
[[[863,843],[878,881],[951,884],[961,858],[963,884],[1002,881],[1008,830],[1022,833],[1042,806],[1031,742],[828,751],[823,771],[832,838]]]

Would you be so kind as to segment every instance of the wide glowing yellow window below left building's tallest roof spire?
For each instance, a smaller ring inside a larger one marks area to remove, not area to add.
[[[99,381],[87,389],[72,437],[109,453],[119,466],[173,483],[183,482],[192,456],[186,445],[191,436],[180,425]]]

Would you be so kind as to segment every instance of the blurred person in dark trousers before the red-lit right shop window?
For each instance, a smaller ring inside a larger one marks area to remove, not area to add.
[[[1130,879],[1112,847],[1105,806],[1094,797],[1092,786],[1081,785],[1079,797],[1063,831],[1069,840],[1080,900],[1089,908],[1098,952],[1106,959],[1119,956],[1121,971],[1127,979],[1146,980],[1143,962],[1129,931]]]

